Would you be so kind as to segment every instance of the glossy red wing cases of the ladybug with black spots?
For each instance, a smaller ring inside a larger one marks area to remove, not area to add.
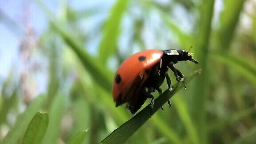
[[[127,103],[132,98],[134,94],[132,88],[138,84],[140,86],[140,83],[147,79],[144,71],[158,63],[162,56],[163,52],[160,50],[146,50],[132,55],[120,65],[112,88],[116,107]]]

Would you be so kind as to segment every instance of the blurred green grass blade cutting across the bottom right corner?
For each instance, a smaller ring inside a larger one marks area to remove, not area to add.
[[[255,144],[256,143],[256,126],[250,128],[242,136],[234,140],[232,144]]]

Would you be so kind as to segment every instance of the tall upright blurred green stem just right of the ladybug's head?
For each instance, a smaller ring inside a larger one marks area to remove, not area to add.
[[[191,99],[191,115],[199,134],[199,143],[207,143],[205,103],[208,98],[208,47],[212,28],[212,16],[215,0],[203,0],[199,5],[198,33],[195,40],[195,53],[199,67],[203,69],[194,83]]]

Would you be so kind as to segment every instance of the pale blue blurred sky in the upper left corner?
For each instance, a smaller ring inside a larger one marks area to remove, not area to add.
[[[114,0],[69,0],[68,4],[76,9],[82,10],[88,7],[95,7],[98,4],[108,4]],[[58,13],[60,2],[66,0],[42,0],[54,13]],[[36,36],[40,36],[47,28],[47,17],[44,12],[34,3],[33,0],[1,0],[0,11],[16,23],[18,28],[10,26],[0,18],[0,82],[10,72],[12,66],[19,65],[19,45],[24,38],[24,30],[27,26],[35,30]],[[20,31],[21,30],[21,31]]]

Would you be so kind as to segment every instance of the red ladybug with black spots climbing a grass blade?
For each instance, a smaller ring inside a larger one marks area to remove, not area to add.
[[[177,81],[184,80],[184,75],[174,67],[174,64],[185,60],[198,64],[192,53],[185,50],[145,50],[130,56],[120,65],[114,77],[112,96],[116,107],[127,103],[128,109],[134,114],[148,98],[151,99],[153,107],[154,97],[151,93],[156,90],[159,94],[162,93],[160,86],[165,78],[169,90],[172,90],[171,79],[168,76],[169,68]],[[168,104],[171,107],[169,100]]]

